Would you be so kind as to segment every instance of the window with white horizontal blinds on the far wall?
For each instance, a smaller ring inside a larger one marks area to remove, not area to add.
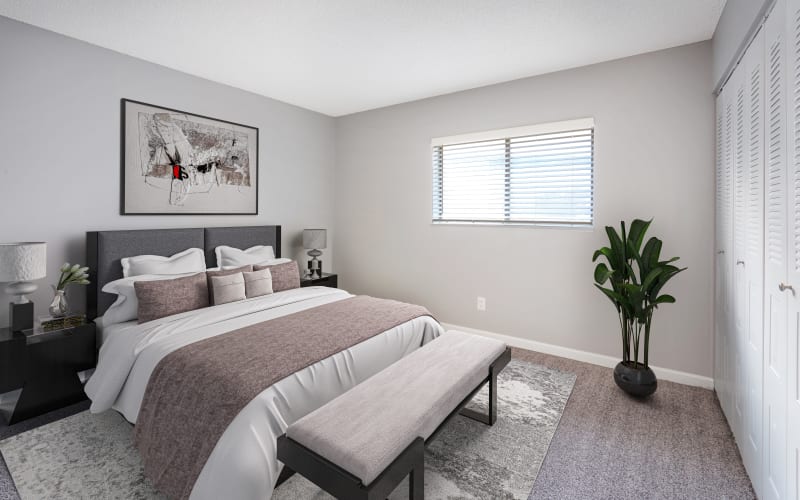
[[[434,139],[433,222],[590,225],[594,121]]]

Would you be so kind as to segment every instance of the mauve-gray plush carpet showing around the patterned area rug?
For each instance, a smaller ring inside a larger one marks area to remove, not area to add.
[[[513,356],[577,377],[530,498],[755,498],[712,391],[660,381],[640,402],[614,385],[609,368],[522,349]],[[0,438],[85,408],[0,424]],[[18,498],[0,461],[0,500]]]

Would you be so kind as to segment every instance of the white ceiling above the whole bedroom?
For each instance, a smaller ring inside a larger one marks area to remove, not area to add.
[[[708,40],[725,0],[0,0],[0,14],[331,116]]]

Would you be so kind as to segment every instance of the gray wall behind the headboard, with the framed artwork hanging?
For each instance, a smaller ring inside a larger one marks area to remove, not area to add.
[[[84,262],[88,230],[282,224],[284,254],[302,258],[304,227],[333,229],[332,118],[4,17],[0,68],[0,241],[47,242],[37,315],[60,264]],[[258,127],[259,215],[120,216],[123,97]]]

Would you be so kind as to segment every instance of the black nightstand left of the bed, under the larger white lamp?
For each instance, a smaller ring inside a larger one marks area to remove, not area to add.
[[[10,424],[86,399],[78,372],[97,362],[94,323],[46,333],[0,328],[0,392],[22,389]]]

